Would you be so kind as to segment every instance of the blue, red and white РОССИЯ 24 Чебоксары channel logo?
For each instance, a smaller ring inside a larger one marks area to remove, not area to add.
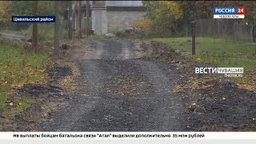
[[[245,18],[244,6],[216,6],[214,18]]]

